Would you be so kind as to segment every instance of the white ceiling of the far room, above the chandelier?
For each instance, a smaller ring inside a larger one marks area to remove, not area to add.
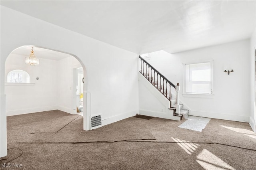
[[[30,53],[31,53],[31,47],[32,46],[27,46],[27,45],[19,47],[19,48],[15,49],[14,51],[12,51],[12,54],[18,54],[18,55],[22,55],[24,57],[29,57]],[[60,60],[60,59],[64,59],[66,57],[71,56],[66,53],[61,53],[58,51],[53,51],[50,49],[34,47],[34,46],[33,46],[33,51],[34,51],[35,57],[38,59],[44,58],[44,59]]]

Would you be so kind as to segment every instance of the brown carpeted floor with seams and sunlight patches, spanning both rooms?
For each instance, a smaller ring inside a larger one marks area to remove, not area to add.
[[[10,116],[0,169],[256,169],[256,134],[248,123],[211,119],[197,132],[178,128],[184,121],[130,117],[84,131],[83,117],[62,111]]]

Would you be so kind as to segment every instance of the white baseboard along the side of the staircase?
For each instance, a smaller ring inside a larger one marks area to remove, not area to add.
[[[180,117],[174,116],[173,111],[169,110],[166,112],[158,112],[158,111],[150,111],[150,110],[145,110],[145,109],[139,109],[139,114],[140,115],[145,115],[145,116],[152,116],[152,117],[159,117],[159,118],[164,118],[164,119],[171,119],[174,121],[180,121]]]

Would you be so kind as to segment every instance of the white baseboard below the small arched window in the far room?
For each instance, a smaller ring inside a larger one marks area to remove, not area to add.
[[[50,106],[50,107],[30,108],[30,109],[22,109],[22,110],[10,110],[10,111],[6,111],[6,115],[7,116],[23,115],[23,114],[27,114],[27,113],[52,111],[52,110],[57,110],[57,109],[58,109],[57,106]]]

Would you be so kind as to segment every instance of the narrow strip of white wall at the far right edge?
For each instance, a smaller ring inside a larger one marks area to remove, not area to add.
[[[255,83],[255,49],[256,49],[256,31],[254,31],[254,33],[252,34],[252,37],[250,39],[250,126],[252,127],[252,129],[254,130],[254,132],[256,132],[256,113],[255,113],[255,87],[256,87],[256,83]]]

